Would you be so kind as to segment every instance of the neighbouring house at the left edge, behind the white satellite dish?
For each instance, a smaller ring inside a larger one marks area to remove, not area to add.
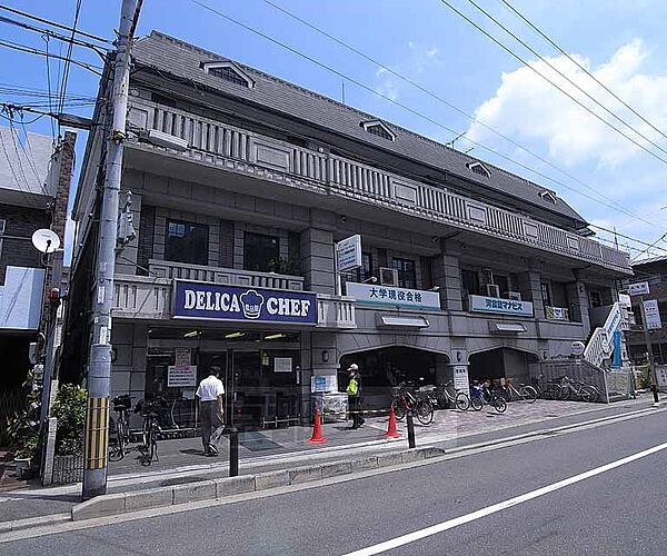
[[[0,128],[0,393],[7,398],[31,367],[30,342],[43,355],[51,331],[44,285],[60,288],[52,280],[60,276],[62,254],[42,257],[31,237],[50,228],[64,241],[74,140],[67,132],[53,148],[50,137]]]

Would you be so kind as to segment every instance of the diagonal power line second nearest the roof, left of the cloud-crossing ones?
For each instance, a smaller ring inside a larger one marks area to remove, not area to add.
[[[405,75],[391,69],[390,67],[384,64],[382,62],[378,61],[377,59],[368,56],[367,53],[362,52],[361,50],[359,50],[358,48],[340,40],[339,38],[335,37],[334,34],[325,31],[323,29],[310,23],[309,21],[300,18],[299,16],[290,12],[289,10],[282,8],[281,6],[272,2],[271,0],[261,0],[263,3],[270,6],[271,8],[280,11],[281,13],[286,14],[287,17],[298,21],[299,23],[308,27],[309,29],[312,29],[313,31],[320,33],[321,36],[328,38],[329,40],[336,42],[337,44],[348,49],[349,51],[354,52],[355,54],[364,58],[365,60],[371,62],[375,66],[378,66],[379,68],[384,69],[385,71],[391,73],[392,76],[397,77],[398,79],[407,82],[408,85],[415,87],[416,89],[420,90],[421,92],[428,95],[429,97],[438,100],[439,102],[442,102],[445,106],[447,106],[448,108],[455,110],[456,112],[465,116],[466,118],[468,118],[469,120],[471,120],[475,123],[478,123],[479,126],[484,127],[485,129],[488,129],[489,131],[494,132],[495,135],[497,135],[498,137],[505,139],[506,141],[510,142],[511,145],[514,145],[515,147],[521,149],[522,151],[527,152],[528,155],[535,157],[537,160],[550,166],[551,168],[554,168],[555,170],[559,171],[560,173],[563,173],[564,176],[568,177],[569,179],[571,179],[573,181],[576,181],[577,183],[579,183],[580,186],[585,187],[586,189],[588,189],[589,191],[593,191],[594,193],[598,195],[600,198],[606,199],[610,202],[613,202],[614,205],[616,205],[617,207],[625,209],[625,206],[621,205],[620,202],[615,201],[614,199],[611,199],[610,197],[605,196],[604,193],[601,193],[600,191],[598,191],[597,189],[595,189],[594,187],[585,183],[584,181],[581,181],[580,179],[578,179],[576,176],[569,173],[568,171],[564,170],[563,168],[556,166],[555,163],[552,163],[550,160],[541,157],[540,155],[538,155],[535,151],[531,151],[530,149],[526,148],[525,146],[518,143],[517,141],[515,141],[514,139],[511,139],[510,137],[501,133],[500,131],[498,131],[497,129],[492,128],[491,126],[482,122],[481,120],[478,120],[475,116],[466,112],[465,110],[458,108],[457,106],[452,105],[451,102],[449,102],[448,100],[446,100],[445,98],[440,97],[439,95],[432,92],[429,89],[426,89],[425,87],[422,87],[421,85],[419,85],[418,82],[416,82],[415,80],[406,77]],[[465,135],[465,133],[462,133]],[[459,136],[460,137],[460,136]],[[627,209],[626,209],[627,210]],[[640,216],[633,216],[634,219],[641,219]],[[649,224],[651,226],[656,226],[653,222],[649,222],[647,220],[644,220],[646,224]]]

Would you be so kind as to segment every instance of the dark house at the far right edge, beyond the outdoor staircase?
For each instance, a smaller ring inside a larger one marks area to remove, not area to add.
[[[658,301],[661,328],[650,329],[650,341],[653,354],[658,365],[667,365],[667,256],[644,259],[633,265],[635,271],[634,282],[647,281],[650,292],[645,299]],[[633,314],[636,326],[627,334],[628,350],[630,358],[636,364],[646,361],[647,346],[644,336],[644,316],[641,312],[640,298],[634,296]]]

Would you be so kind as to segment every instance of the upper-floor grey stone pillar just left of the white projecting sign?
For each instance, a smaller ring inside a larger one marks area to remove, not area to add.
[[[311,227],[301,232],[301,269],[307,290],[335,294],[332,231]]]

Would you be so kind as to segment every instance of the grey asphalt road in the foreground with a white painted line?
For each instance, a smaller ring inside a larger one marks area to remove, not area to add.
[[[666,420],[660,411],[337,485],[2,544],[0,553],[342,555],[661,445]],[[385,554],[667,554],[665,469],[660,449]]]

